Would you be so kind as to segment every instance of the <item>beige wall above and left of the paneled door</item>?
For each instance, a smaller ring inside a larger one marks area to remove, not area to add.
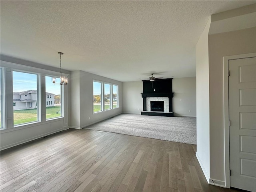
[[[256,52],[256,28],[209,35],[210,177],[224,181],[223,56]]]

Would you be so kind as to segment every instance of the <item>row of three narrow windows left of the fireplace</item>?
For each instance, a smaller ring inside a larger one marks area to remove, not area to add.
[[[104,98],[104,102],[102,102],[102,98]],[[93,81],[93,112],[113,108],[118,108],[118,85]]]

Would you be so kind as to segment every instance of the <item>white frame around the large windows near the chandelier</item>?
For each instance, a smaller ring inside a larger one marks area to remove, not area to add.
[[[68,113],[67,111],[65,112],[64,116],[64,110],[67,110],[68,108],[68,86],[61,86],[61,102],[62,102],[62,115],[58,118],[51,118],[46,120],[46,106],[45,106],[45,75],[47,76],[56,76],[58,77],[60,73],[58,71],[51,71],[51,70],[46,70],[44,68],[40,68],[40,64],[38,67],[33,67],[30,65],[26,64],[18,64],[13,63],[13,62],[7,62],[7,61],[0,61],[1,63],[1,69],[2,69],[2,122],[1,125],[2,127],[0,128],[1,133],[6,133],[10,131],[15,131],[15,130],[20,130],[24,128],[29,128],[29,127],[34,127],[34,126],[40,126],[41,124],[46,124],[50,122],[56,122],[56,121],[63,121],[65,120],[64,124],[67,126],[68,122]],[[36,122],[28,122],[26,124],[18,124],[14,126],[13,123],[13,106],[11,103],[13,103],[13,88],[12,88],[12,72],[17,71],[17,72],[24,72],[24,73],[30,73],[30,74],[38,74],[37,76],[37,110],[38,110],[38,121]],[[68,76],[69,74],[62,73],[65,76]],[[60,85],[56,85],[60,86]],[[11,97],[7,97],[7,95],[12,95]],[[43,99],[44,96],[44,99]],[[44,107],[43,107],[44,106]],[[8,119],[8,121],[7,121]],[[11,119],[11,121],[10,121]]]

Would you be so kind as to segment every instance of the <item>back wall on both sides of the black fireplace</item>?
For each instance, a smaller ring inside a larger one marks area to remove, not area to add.
[[[196,116],[196,78],[175,78],[172,90],[175,92],[172,98],[174,115]],[[140,114],[143,110],[142,92],[142,81],[123,82],[124,113]]]

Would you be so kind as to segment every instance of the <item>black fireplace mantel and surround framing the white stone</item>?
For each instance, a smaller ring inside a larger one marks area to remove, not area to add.
[[[143,111],[142,115],[154,115],[154,116],[173,116],[172,112],[172,78],[155,80],[152,84],[149,80],[143,80]],[[147,112],[146,110],[146,98],[147,97],[168,97],[169,98],[169,113],[159,112]]]

